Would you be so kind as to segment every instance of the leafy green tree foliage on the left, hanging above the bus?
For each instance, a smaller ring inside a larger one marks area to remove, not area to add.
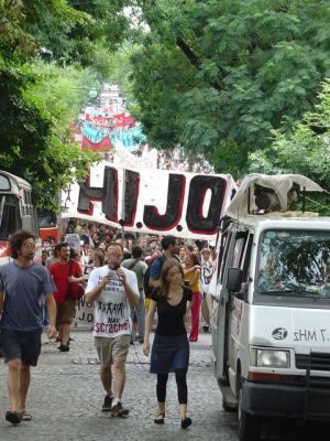
[[[37,205],[50,208],[58,208],[59,192],[96,159],[73,143],[68,126],[87,101],[88,88],[98,84],[87,66],[108,73],[97,50],[106,58],[107,45],[114,44],[107,36],[120,28],[124,35],[122,22],[117,28],[108,22],[108,33],[100,30],[106,26],[100,9],[107,2],[94,4],[94,15],[87,10],[90,2],[80,3],[0,2],[1,168],[30,181]],[[118,37],[116,44],[120,42]]]

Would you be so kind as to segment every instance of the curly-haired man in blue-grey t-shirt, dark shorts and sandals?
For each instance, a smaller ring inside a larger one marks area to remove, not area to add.
[[[35,265],[35,236],[26,230],[14,233],[9,240],[12,262],[0,267],[0,337],[8,365],[10,409],[7,421],[30,421],[25,401],[30,386],[30,366],[36,366],[41,353],[42,299],[45,299],[50,338],[56,336],[56,291],[48,271]]]

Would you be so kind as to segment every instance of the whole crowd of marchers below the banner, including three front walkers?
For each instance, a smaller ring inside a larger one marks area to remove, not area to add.
[[[197,342],[201,302],[215,270],[216,255],[208,243],[174,236],[123,235],[98,224],[70,223],[80,247],[48,238],[42,265],[35,263],[35,237],[25,230],[10,239],[13,261],[0,267],[0,345],[8,365],[9,408],[6,419],[31,421],[26,410],[31,366],[41,354],[42,327],[69,352],[76,292],[95,303],[94,338],[105,390],[101,410],[128,417],[122,404],[125,361],[131,344],[143,344],[150,370],[156,374],[156,424],[165,422],[166,384],[175,373],[180,426],[187,429],[186,376],[189,344]],[[206,300],[205,300],[206,301]],[[154,314],[157,325],[150,346]],[[189,333],[187,320],[190,316]]]

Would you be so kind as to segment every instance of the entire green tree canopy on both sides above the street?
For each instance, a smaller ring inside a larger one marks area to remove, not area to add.
[[[315,120],[329,46],[329,0],[0,0],[1,168],[54,207],[66,173],[95,159],[68,125],[113,78],[151,144],[235,178],[296,170],[329,187]]]

